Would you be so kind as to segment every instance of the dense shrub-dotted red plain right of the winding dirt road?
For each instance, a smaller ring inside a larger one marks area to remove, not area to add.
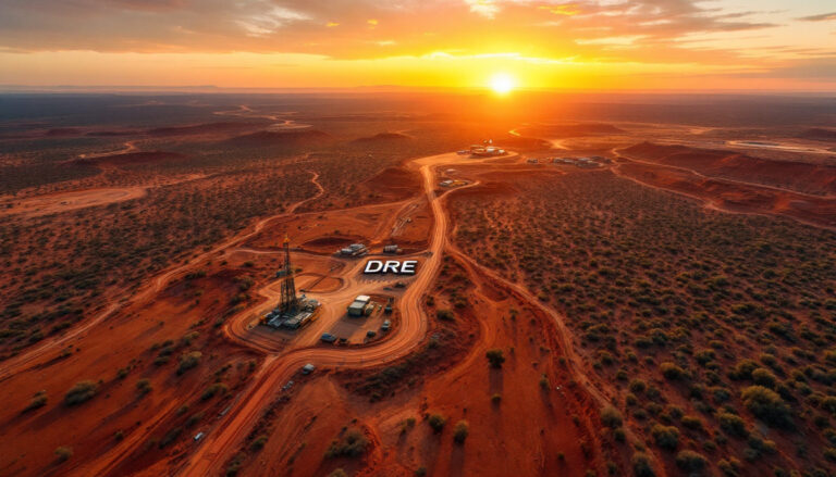
[[[741,454],[726,436],[748,437],[752,417],[785,439],[829,442],[836,236],[705,212],[606,172],[527,176],[513,187],[454,196],[456,243],[567,317],[592,378],[626,384],[613,402],[646,445],[655,445],[655,425],[667,449],[716,436],[705,452],[733,468]],[[676,445],[669,428],[681,435]]]

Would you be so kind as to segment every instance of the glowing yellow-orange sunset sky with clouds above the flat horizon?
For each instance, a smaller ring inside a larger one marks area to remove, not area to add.
[[[0,0],[0,85],[836,91],[834,0]]]

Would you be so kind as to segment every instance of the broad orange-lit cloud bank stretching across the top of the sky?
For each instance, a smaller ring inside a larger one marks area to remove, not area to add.
[[[753,4],[755,0],[751,1]],[[738,64],[762,12],[700,0],[0,0],[0,49]],[[786,16],[787,14],[785,14]],[[792,18],[786,18],[790,21]],[[339,27],[337,27],[339,26]],[[701,38],[732,40],[700,45]],[[786,43],[785,46],[809,47]],[[381,48],[385,47],[385,48]],[[797,53],[803,55],[804,53]],[[815,54],[813,52],[810,55]]]

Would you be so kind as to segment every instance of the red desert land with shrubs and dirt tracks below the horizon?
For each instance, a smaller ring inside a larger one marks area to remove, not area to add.
[[[3,130],[0,475],[833,475],[817,123],[280,99]]]

